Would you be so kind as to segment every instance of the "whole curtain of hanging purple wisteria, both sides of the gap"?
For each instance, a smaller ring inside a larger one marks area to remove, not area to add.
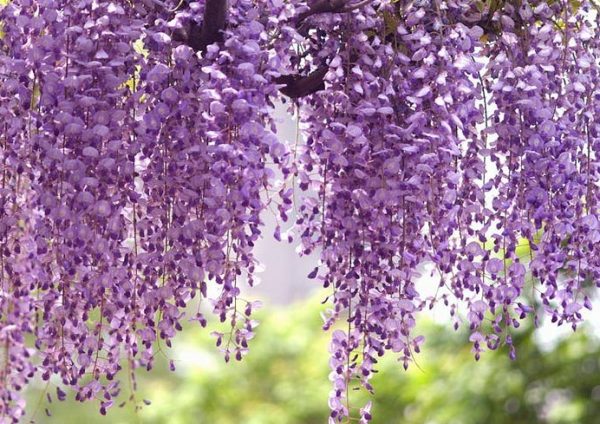
[[[331,423],[370,420],[352,391],[409,365],[436,303],[476,358],[514,358],[527,317],[575,329],[600,285],[596,7],[0,0],[0,422],[35,376],[105,414],[184,321],[241,360],[272,213],[331,293]]]

